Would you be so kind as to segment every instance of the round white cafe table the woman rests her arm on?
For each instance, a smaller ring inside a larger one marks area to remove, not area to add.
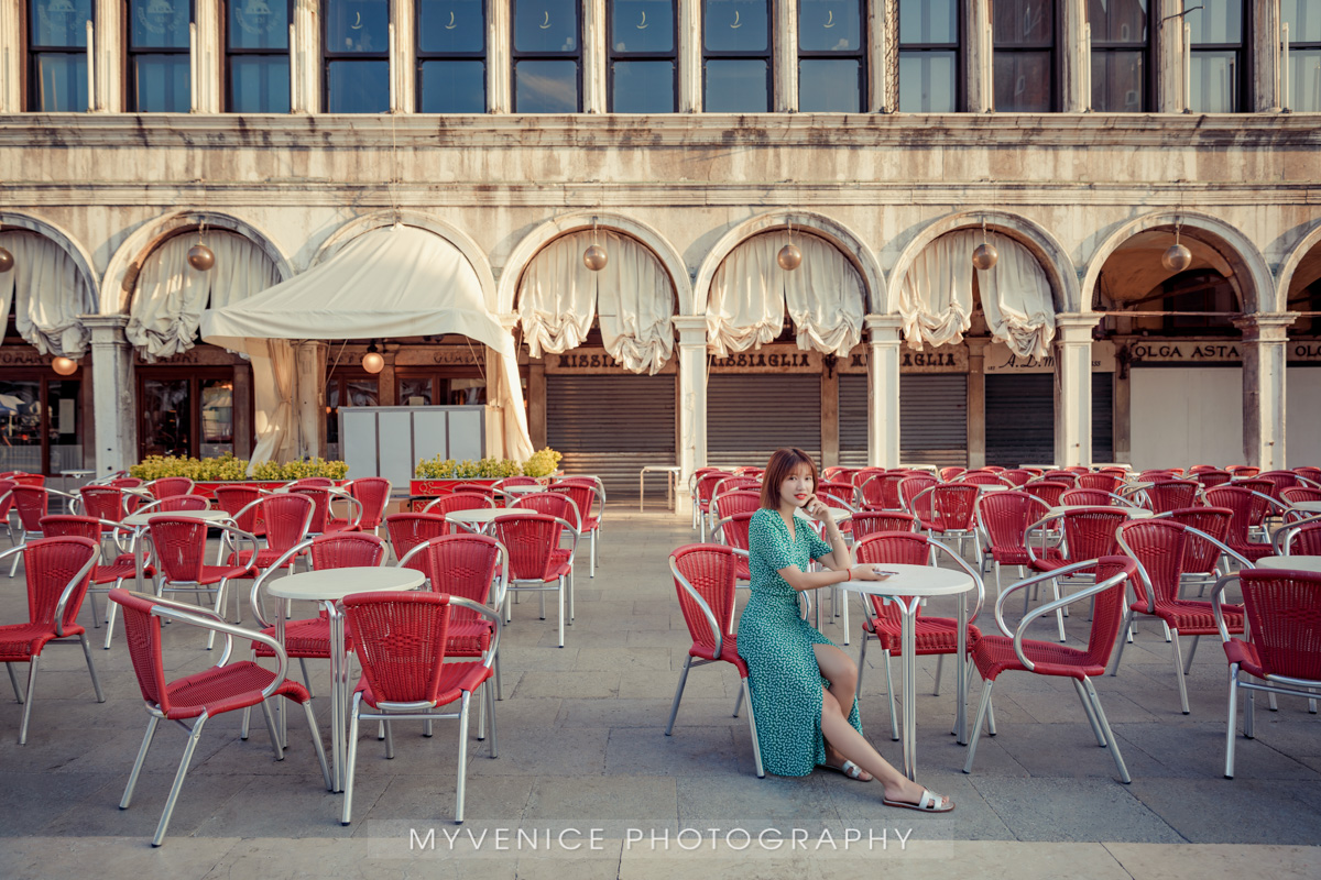
[[[900,607],[902,615],[901,625],[901,661],[904,666],[904,773],[910,780],[917,778],[917,637],[914,635],[918,606],[927,596],[959,598],[959,657],[967,656],[968,637],[968,602],[967,594],[976,583],[966,571],[954,569],[939,569],[926,565],[897,565],[885,563],[877,567],[896,574],[884,581],[845,581],[839,584],[849,592],[863,596],[884,596]],[[963,674],[963,664],[959,664],[956,687],[956,702],[954,707],[954,732],[959,744],[967,741],[967,689],[968,679]]]

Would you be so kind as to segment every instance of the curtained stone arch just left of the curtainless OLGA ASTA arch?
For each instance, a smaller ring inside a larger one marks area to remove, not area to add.
[[[1050,281],[1050,292],[1054,298],[1055,314],[1069,311],[1090,311],[1083,302],[1078,286],[1078,270],[1069,257],[1059,240],[1036,220],[1030,220],[1021,214],[1000,210],[959,211],[946,215],[927,224],[917,236],[909,241],[900,252],[894,268],[890,270],[890,280],[894,282],[894,297],[889,311],[898,311],[898,286],[904,284],[904,276],[917,259],[917,255],[947,232],[959,230],[982,228],[985,220],[987,231],[1007,235],[1029,252],[1041,264]],[[972,255],[968,255],[971,259]]]

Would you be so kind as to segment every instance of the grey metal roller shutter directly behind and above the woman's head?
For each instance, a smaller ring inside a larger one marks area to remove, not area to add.
[[[762,467],[785,446],[811,454],[820,464],[820,376],[711,376],[707,463]]]

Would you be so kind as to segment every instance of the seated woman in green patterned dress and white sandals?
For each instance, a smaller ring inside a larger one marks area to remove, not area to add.
[[[815,488],[816,464],[807,453],[777,451],[766,464],[761,509],[749,524],[752,599],[738,620],[737,644],[748,662],[762,763],[778,776],[807,776],[826,767],[863,782],[878,777],[888,806],[952,810],[954,801],[896,770],[863,736],[853,662],[799,616],[799,592],[881,578],[873,566],[852,565]],[[808,517],[824,525],[830,544]],[[811,559],[827,570],[808,571]]]

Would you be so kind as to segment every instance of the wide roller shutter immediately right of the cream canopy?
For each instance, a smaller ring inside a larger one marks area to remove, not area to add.
[[[546,377],[546,433],[565,474],[596,474],[613,500],[638,496],[645,464],[674,464],[674,376]],[[664,480],[647,493],[664,497]]]

